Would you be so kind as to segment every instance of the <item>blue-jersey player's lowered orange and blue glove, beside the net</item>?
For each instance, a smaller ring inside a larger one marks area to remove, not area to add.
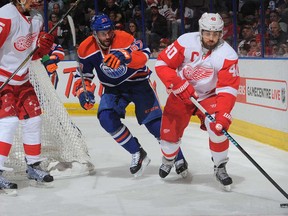
[[[81,82],[81,80],[79,80]],[[89,110],[92,109],[95,104],[95,96],[94,96],[94,90],[91,86],[91,82],[88,80],[85,80],[85,87],[86,92],[84,91],[83,86],[79,86],[76,89],[76,95],[79,98],[80,105],[83,109]]]

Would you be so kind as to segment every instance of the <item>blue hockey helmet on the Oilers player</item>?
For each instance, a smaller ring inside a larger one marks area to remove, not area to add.
[[[91,30],[92,31],[107,31],[113,30],[114,25],[111,19],[106,14],[95,15],[91,19]]]

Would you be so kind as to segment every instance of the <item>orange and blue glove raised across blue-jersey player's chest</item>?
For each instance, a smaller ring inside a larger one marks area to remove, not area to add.
[[[118,68],[120,65],[129,64],[132,58],[130,53],[127,50],[115,50],[106,55],[103,59],[103,62],[113,69]]]

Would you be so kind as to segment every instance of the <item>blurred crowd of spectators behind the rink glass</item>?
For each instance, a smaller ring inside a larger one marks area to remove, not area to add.
[[[51,29],[76,0],[46,0],[43,16]],[[2,0],[1,5],[9,0]],[[263,8],[264,10],[262,11]],[[55,29],[56,43],[63,46],[66,59],[75,60],[77,46],[92,34],[90,19],[105,13],[115,29],[127,31],[151,50],[151,57],[186,32],[198,31],[204,12],[217,12],[224,21],[223,39],[240,57],[288,57],[288,0],[86,0],[70,15],[76,44],[66,19]]]

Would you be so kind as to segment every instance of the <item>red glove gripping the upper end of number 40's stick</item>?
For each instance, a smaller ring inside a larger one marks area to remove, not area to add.
[[[191,97],[196,99],[198,98],[195,89],[187,80],[181,80],[180,82],[176,83],[172,88],[172,92],[187,105],[193,104],[190,100]]]

